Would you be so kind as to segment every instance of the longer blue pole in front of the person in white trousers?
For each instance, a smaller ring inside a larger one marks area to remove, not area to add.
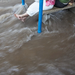
[[[43,0],[39,0],[39,23],[38,33],[42,32],[42,13],[43,13]]]

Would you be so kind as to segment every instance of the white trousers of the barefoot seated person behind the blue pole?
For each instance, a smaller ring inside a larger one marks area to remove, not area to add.
[[[55,3],[55,0],[50,0],[50,1],[53,1]],[[50,4],[49,6],[46,6],[46,0],[43,0],[43,10],[49,10],[49,9],[52,9],[53,6],[54,6],[54,3],[52,2],[52,4]],[[29,16],[33,16],[35,15],[36,13],[39,12],[39,0],[35,0],[34,3],[32,3],[29,8],[27,9],[27,14]]]

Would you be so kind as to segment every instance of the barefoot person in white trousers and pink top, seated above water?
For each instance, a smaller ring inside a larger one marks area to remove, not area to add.
[[[54,4],[55,4],[55,0],[43,0],[43,10],[52,9]],[[39,0],[35,0],[35,2],[29,6],[26,13],[21,14],[21,15],[18,15],[18,14],[14,14],[14,15],[16,18],[18,18],[24,22],[24,20],[28,16],[33,16],[38,12],[39,12]]]

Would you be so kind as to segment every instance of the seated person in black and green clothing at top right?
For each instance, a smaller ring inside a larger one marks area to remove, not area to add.
[[[58,7],[58,8],[63,8],[67,5],[72,5],[74,2],[74,0],[56,0],[55,2],[55,7]]]

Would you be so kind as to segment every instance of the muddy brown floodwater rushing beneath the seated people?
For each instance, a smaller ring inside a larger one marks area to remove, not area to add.
[[[37,15],[24,23],[13,16],[20,5],[0,0],[0,75],[75,75],[75,14],[52,13],[38,34]]]

